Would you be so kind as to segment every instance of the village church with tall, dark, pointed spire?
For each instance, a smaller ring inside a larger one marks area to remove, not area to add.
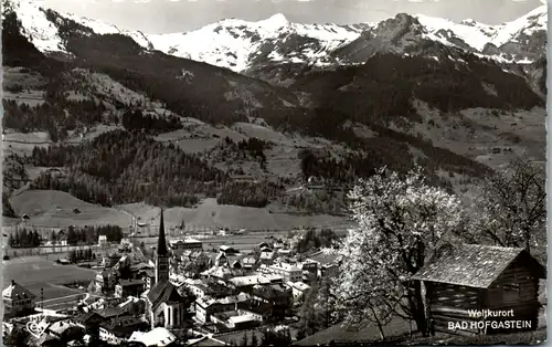
[[[146,301],[146,318],[151,329],[164,327],[178,329],[183,326],[188,308],[185,297],[182,297],[177,287],[169,282],[170,254],[164,239],[163,210],[159,222],[159,239],[156,255],[156,275],[151,288],[142,294]]]

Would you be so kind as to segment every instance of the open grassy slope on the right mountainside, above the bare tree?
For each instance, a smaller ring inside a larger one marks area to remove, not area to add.
[[[470,108],[457,115],[440,115],[422,102],[415,106],[424,116],[424,123],[417,124],[414,133],[432,140],[435,147],[450,149],[492,168],[502,167],[514,156],[545,160],[546,111],[543,108],[511,113]]]

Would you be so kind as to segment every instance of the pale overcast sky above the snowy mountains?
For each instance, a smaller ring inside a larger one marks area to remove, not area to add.
[[[102,20],[146,33],[182,32],[226,18],[262,20],[283,13],[300,23],[374,22],[396,13],[422,13],[454,21],[471,18],[499,24],[544,0],[43,0],[61,12]]]

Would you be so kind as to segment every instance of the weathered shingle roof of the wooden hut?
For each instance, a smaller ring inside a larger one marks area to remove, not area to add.
[[[535,272],[544,273],[543,266],[521,248],[460,244],[442,252],[411,278],[488,288],[521,254],[534,262]]]

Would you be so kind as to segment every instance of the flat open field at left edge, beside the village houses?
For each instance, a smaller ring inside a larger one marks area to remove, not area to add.
[[[56,259],[56,257],[55,257]],[[3,261],[3,287],[10,285],[11,280],[21,284],[40,299],[41,288],[44,290],[44,299],[82,293],[63,284],[73,281],[91,281],[96,275],[94,270],[73,265],[54,263],[54,257],[25,256]]]

